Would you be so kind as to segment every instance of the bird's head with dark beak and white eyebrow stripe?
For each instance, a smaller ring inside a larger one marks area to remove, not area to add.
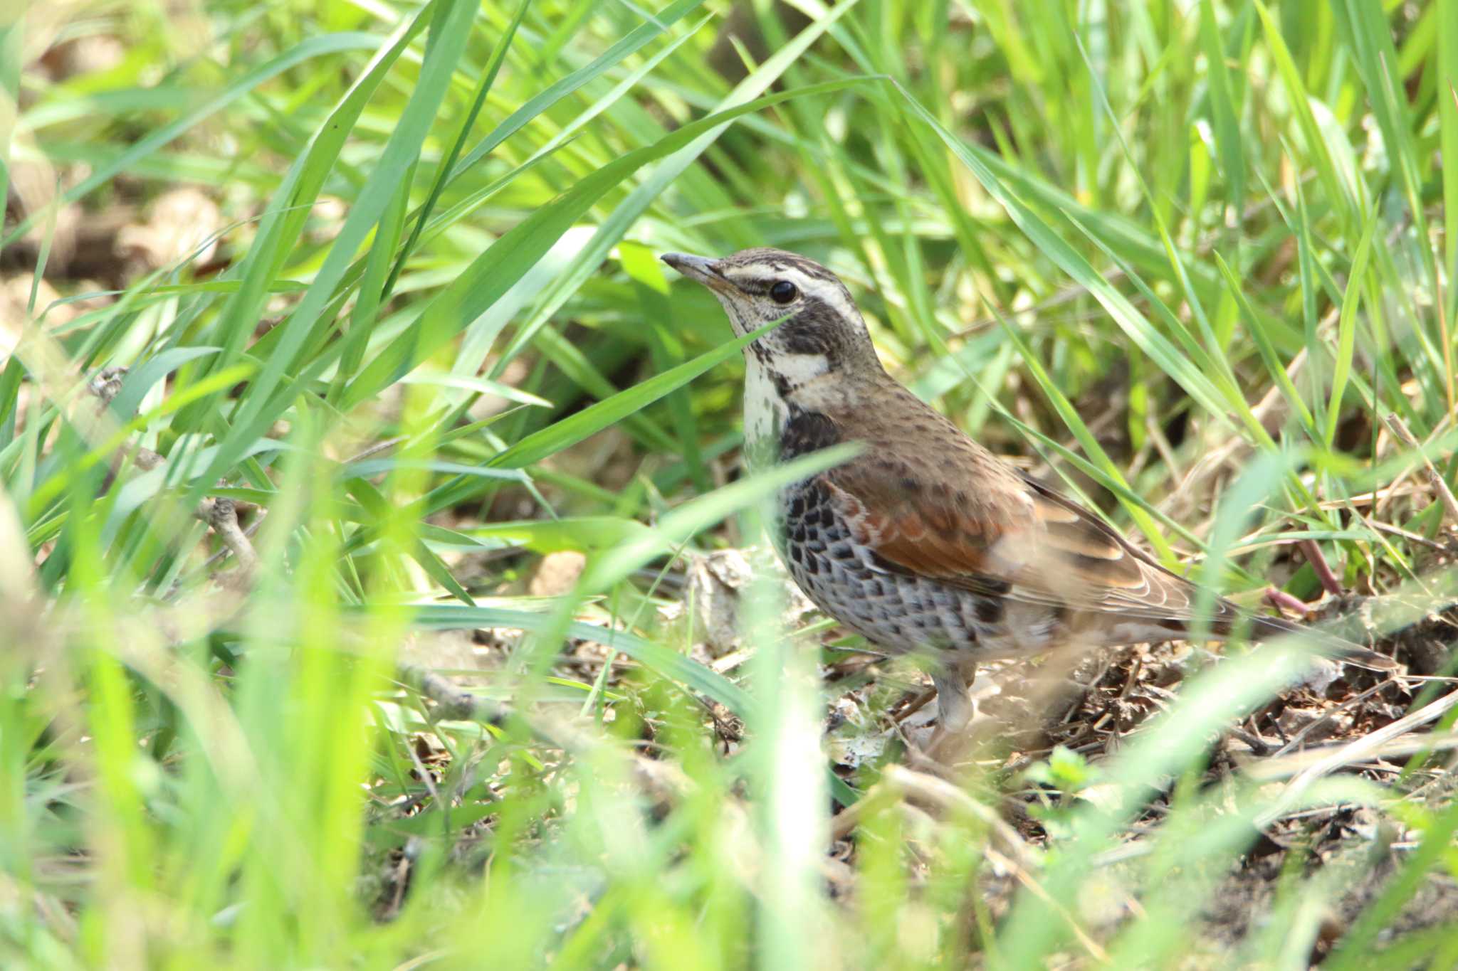
[[[665,253],[663,262],[709,287],[741,336],[787,317],[745,348],[777,383],[882,373],[850,291],[819,263],[781,249],[742,249],[723,259]]]

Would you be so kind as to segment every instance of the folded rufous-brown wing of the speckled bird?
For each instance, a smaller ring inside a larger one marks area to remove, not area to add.
[[[862,457],[825,473],[825,483],[857,542],[889,569],[1029,603],[1193,619],[1188,581],[990,453],[956,450],[894,469]]]

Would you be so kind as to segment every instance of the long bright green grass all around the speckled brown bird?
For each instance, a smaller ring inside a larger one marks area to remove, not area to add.
[[[1458,587],[1458,7],[795,7],[3,28],[0,964],[1458,964],[1458,907],[1411,916],[1458,876],[1441,683],[1321,709],[1424,710],[1438,754],[1273,782],[1212,740],[1295,662],[1150,658],[1190,677],[1121,742],[939,788],[895,767],[904,670],[834,686],[885,748],[833,776],[847,655],[763,556],[706,667],[682,566],[805,467],[738,475],[738,349],[655,261],[827,262],[968,432],[1451,674],[1407,625]]]

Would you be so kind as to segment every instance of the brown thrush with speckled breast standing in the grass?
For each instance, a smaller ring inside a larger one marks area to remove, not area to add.
[[[1102,517],[980,445],[886,373],[825,266],[768,247],[662,261],[707,287],[736,335],[781,322],[744,348],[749,470],[860,444],[779,491],[771,539],[821,611],[889,654],[933,658],[942,732],[972,721],[978,664],[1063,645],[1306,632],[1343,662],[1400,670],[1334,635],[1201,595]]]

